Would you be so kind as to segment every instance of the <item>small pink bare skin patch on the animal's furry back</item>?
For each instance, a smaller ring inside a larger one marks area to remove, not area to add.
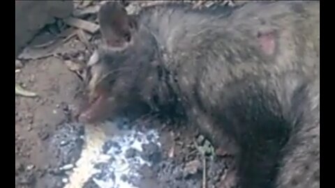
[[[258,42],[263,53],[271,56],[276,50],[276,33],[269,31],[265,33],[258,33]]]

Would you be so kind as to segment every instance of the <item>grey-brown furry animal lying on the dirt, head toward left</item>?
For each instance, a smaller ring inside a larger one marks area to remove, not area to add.
[[[319,7],[170,4],[131,17],[107,3],[99,12],[107,47],[91,62],[100,79],[89,89],[105,93],[110,116],[133,102],[185,116],[237,152],[241,187],[320,187]],[[81,119],[105,117],[96,115]]]

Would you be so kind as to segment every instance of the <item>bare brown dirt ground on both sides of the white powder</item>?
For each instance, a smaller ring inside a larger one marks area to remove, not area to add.
[[[20,70],[15,73],[16,83],[38,94],[38,97],[15,96],[17,188],[66,186],[71,171],[59,169],[75,164],[80,158],[84,135],[90,126],[75,120],[80,104],[77,94],[82,82],[64,61],[66,56],[87,61],[91,54],[78,38],[71,38],[57,50],[61,55],[23,58],[15,65]],[[194,144],[198,133],[193,127],[164,123],[154,123],[151,127],[159,131],[162,147],[143,147],[144,157],[153,165],[141,167],[142,178],[135,181],[135,185],[141,188],[203,187],[203,173],[206,172],[208,188],[232,187],[233,158],[207,157],[204,165],[204,157]],[[82,187],[98,185],[90,178]]]

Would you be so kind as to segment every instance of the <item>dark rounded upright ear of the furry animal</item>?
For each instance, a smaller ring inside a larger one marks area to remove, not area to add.
[[[110,47],[123,47],[132,40],[136,28],[135,18],[127,15],[126,9],[117,1],[107,1],[99,12],[98,19],[103,40]]]

